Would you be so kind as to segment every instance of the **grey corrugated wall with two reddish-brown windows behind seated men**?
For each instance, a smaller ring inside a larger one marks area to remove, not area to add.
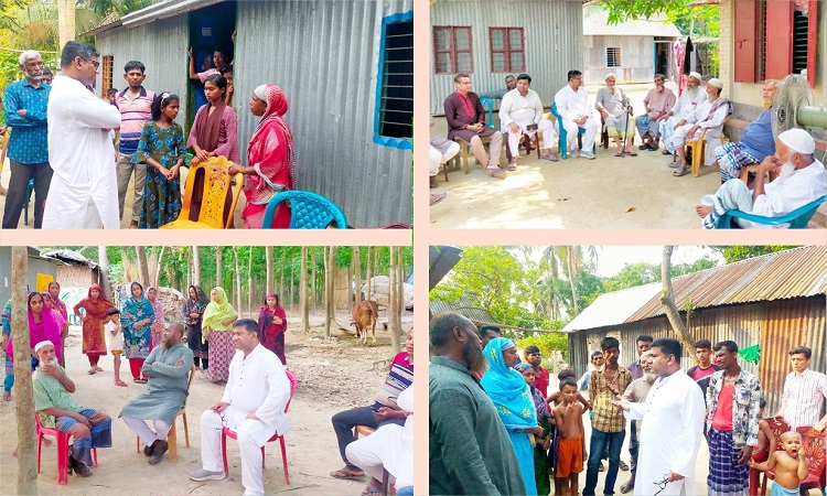
[[[550,107],[570,69],[583,66],[583,12],[580,2],[565,0],[466,1],[439,0],[431,6],[431,25],[471,25],[475,93],[505,87],[505,73],[492,73],[488,28],[524,28],[526,73],[531,89]],[[445,97],[454,91],[453,74],[434,75],[433,36],[429,33],[431,112],[442,115]]]

